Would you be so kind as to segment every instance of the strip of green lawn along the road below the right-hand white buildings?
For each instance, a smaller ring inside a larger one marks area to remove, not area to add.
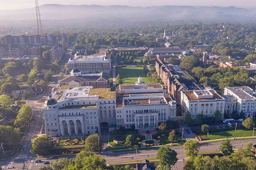
[[[245,136],[253,136],[253,130],[249,129],[239,129],[236,130],[236,137],[243,137],[245,133]],[[212,139],[222,139],[222,138],[232,138],[235,134],[234,129],[227,129],[227,130],[216,130],[213,132],[209,132],[209,135],[207,136],[210,140]],[[199,135],[207,139],[206,133],[199,133]]]

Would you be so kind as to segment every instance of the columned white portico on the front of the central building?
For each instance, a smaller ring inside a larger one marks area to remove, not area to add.
[[[135,129],[151,129],[158,125],[158,112],[135,113]]]

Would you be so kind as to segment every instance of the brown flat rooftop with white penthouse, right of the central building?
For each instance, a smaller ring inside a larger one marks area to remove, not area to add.
[[[182,91],[189,101],[222,100],[223,98],[214,90]],[[201,93],[202,92],[202,93]]]

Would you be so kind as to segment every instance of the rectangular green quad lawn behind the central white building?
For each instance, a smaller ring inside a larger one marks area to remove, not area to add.
[[[122,67],[117,69],[117,73],[120,74],[123,84],[134,84],[138,81],[138,77],[142,77],[142,81],[148,83],[143,67]]]

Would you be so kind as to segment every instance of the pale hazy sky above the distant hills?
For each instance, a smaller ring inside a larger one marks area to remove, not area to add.
[[[128,5],[128,6],[236,6],[256,8],[256,0],[38,0],[39,5]],[[0,10],[31,8],[35,0],[0,0]]]

